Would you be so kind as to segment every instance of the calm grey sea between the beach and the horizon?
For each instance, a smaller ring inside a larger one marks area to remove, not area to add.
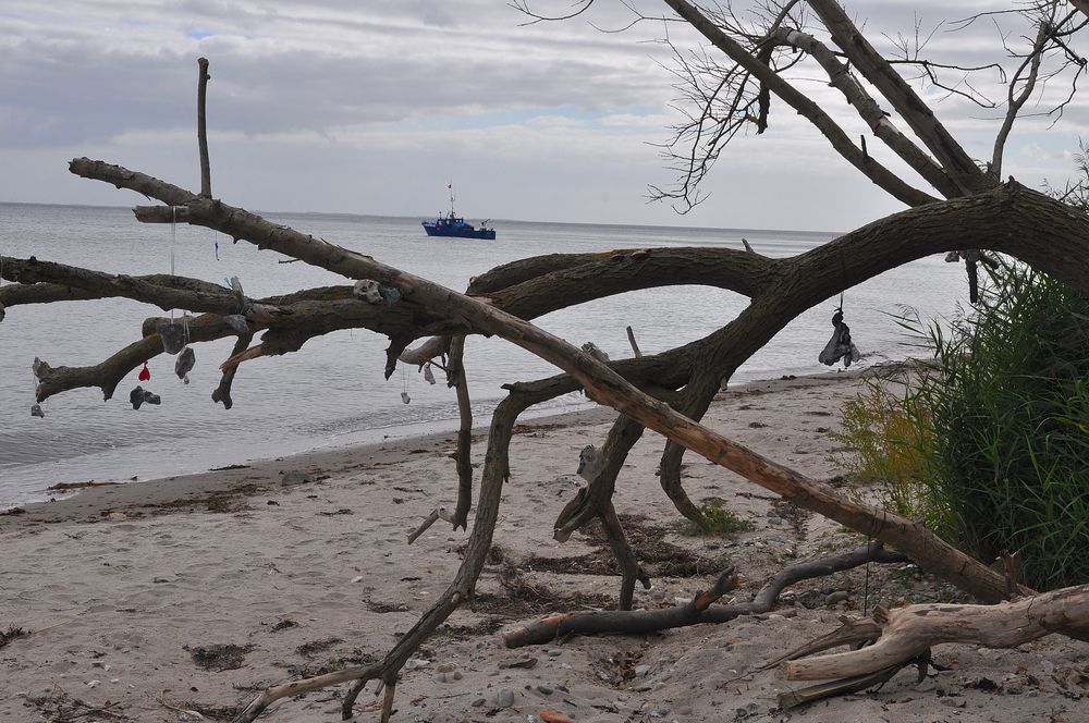
[[[602,252],[651,246],[721,246],[772,257],[803,253],[833,232],[697,229],[494,221],[498,240],[431,238],[421,218],[266,212],[266,218],[386,264],[462,291],[468,279],[501,264],[551,253]],[[225,284],[237,277],[252,297],[289,293],[346,280],[323,269],[207,229],[148,225],[129,208],[0,204],[0,255],[36,256],[111,273],[168,273]],[[0,283],[3,283],[0,281]],[[949,318],[966,294],[963,267],[929,257],[846,291],[843,307],[860,365],[917,354],[917,339],[897,323],[905,310],[923,320]],[[632,292],[549,314],[536,320],[582,345],[594,342],[612,358],[631,356],[625,328],[652,354],[699,339],[732,319],[747,299],[700,286]],[[830,298],[798,317],[735,373],[731,384],[785,375],[829,371],[817,355],[832,332],[840,304]],[[415,367],[382,377],[384,336],[366,330],[331,333],[294,354],[243,364],[234,406],[211,400],[219,364],[233,339],[195,345],[189,384],[173,373],[174,357],[149,364],[158,406],[133,409],[129,392],[137,371],[112,400],[79,389],[42,403],[30,415],[35,357],[52,366],[101,363],[137,341],[140,322],[169,313],[127,299],[11,307],[0,323],[0,510],[59,497],[48,488],[86,481],[139,481],[246,464],[310,450],[347,446],[457,427],[454,392],[429,384]],[[181,313],[175,311],[180,318]],[[839,366],[836,368],[840,368]],[[466,371],[474,418],[490,419],[501,385],[555,373],[549,364],[499,339],[470,338]],[[403,402],[403,393],[409,402]],[[541,405],[534,414],[589,406],[578,393]]]

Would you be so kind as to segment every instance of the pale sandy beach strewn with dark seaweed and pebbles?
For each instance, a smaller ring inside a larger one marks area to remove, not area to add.
[[[721,393],[705,424],[828,479],[829,432],[860,384],[829,373],[747,385]],[[1011,650],[943,646],[934,662],[947,670],[921,683],[905,670],[876,693],[781,711],[778,694],[805,684],[756,669],[831,632],[839,615],[952,593],[907,564],[799,584],[775,612],[723,625],[506,649],[500,633],[518,622],[615,602],[620,578],[601,537],[552,539],[584,483],[578,452],[600,444],[613,417],[595,409],[517,428],[475,610],[460,609],[409,661],[394,721],[536,721],[542,710],[582,723],[1089,720],[1089,647],[1054,636]],[[653,581],[637,588],[637,608],[690,598],[726,564],[744,598],[790,562],[866,542],[693,455],[692,499],[722,500],[754,529],[686,536],[654,474],[662,442],[645,436],[615,497]],[[454,501],[453,449],[453,434],[393,440],[89,488],[0,516],[0,632],[11,633],[0,647],[0,721],[229,720],[270,684],[382,655],[460,564],[467,535],[444,523],[406,544],[431,510]],[[378,720],[372,689],[356,720]],[[286,699],[261,720],[339,721],[342,695]]]

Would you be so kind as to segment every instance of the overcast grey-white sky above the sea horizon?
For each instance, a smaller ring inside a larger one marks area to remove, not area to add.
[[[651,17],[669,10],[631,3]],[[572,3],[534,7],[561,14]],[[879,49],[914,41],[918,27],[928,52],[960,64],[1008,62],[996,39],[1016,41],[1007,19],[949,32],[949,21],[995,7],[847,3]],[[70,174],[78,156],[198,188],[204,56],[212,192],[252,210],[426,217],[448,206],[449,183],[470,220],[847,231],[902,210],[774,101],[769,131],[720,157],[703,204],[682,216],[648,203],[648,186],[675,177],[660,145],[681,94],[661,40],[688,51],[699,38],[653,20],[610,32],[633,20],[620,0],[562,22],[526,20],[504,0],[3,0],[0,201],[146,203]],[[996,77],[972,83],[994,93]],[[827,79],[802,73],[797,83],[853,137],[866,132]],[[1048,84],[1032,109],[1066,93]],[[953,97],[935,110],[969,154],[990,156],[1001,109]],[[1080,97],[1057,123],[1019,121],[1004,175],[1062,185],[1079,137],[1089,137]],[[868,148],[886,157],[872,137]]]

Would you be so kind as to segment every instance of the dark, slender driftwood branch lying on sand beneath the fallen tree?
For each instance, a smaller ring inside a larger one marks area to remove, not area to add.
[[[690,602],[662,610],[578,612],[549,615],[503,634],[507,648],[544,645],[568,635],[595,633],[622,633],[637,635],[699,623],[725,623],[741,615],[766,613],[774,609],[780,593],[790,585],[812,577],[823,577],[851,569],[867,562],[907,562],[902,554],[882,549],[871,542],[858,550],[842,554],[805,560],[788,565],[764,584],[752,599],[712,605],[736,581],[733,567],[719,576],[714,587],[698,593]]]

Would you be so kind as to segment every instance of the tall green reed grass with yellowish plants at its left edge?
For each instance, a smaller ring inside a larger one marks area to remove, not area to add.
[[[933,359],[905,395],[846,406],[856,466],[890,508],[979,559],[1017,553],[1031,587],[1089,580],[1089,301],[1007,265],[947,330],[901,323]]]

